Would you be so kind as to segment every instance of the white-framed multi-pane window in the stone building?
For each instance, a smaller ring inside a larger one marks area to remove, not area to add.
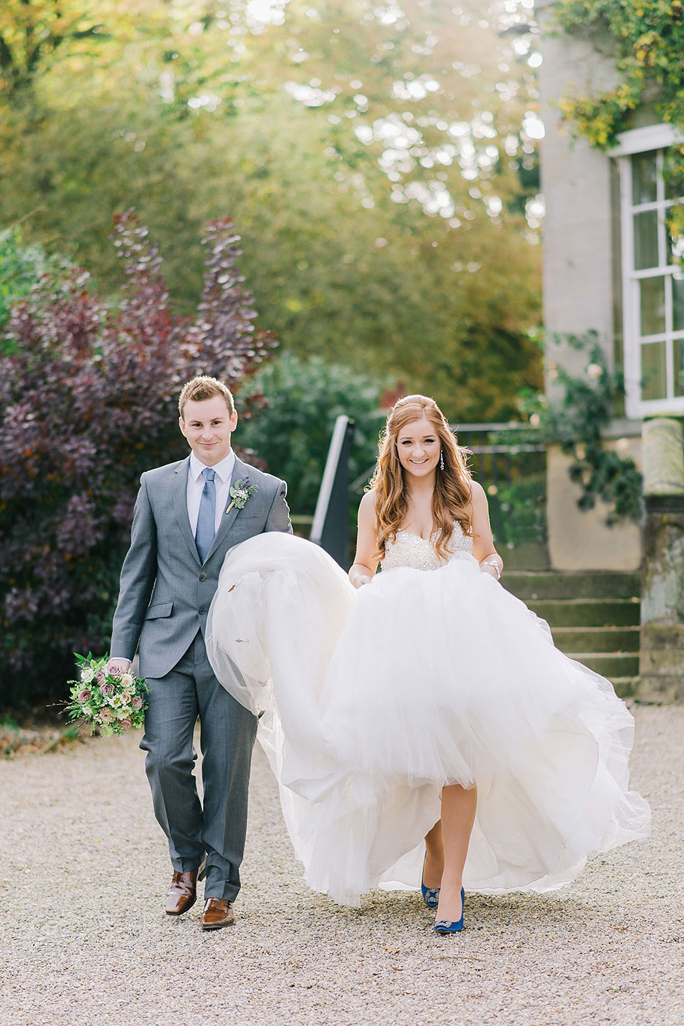
[[[672,125],[622,132],[619,166],[626,411],[684,413],[684,272],[666,224],[678,196],[662,177]]]

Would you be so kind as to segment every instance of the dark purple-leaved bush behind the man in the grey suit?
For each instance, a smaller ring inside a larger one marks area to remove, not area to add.
[[[72,652],[106,650],[139,475],[187,452],[182,384],[210,373],[239,390],[275,345],[254,326],[230,220],[206,228],[192,318],[173,314],[131,212],[113,239],[119,302],[81,270],[46,274],[0,343],[0,705],[63,696]]]

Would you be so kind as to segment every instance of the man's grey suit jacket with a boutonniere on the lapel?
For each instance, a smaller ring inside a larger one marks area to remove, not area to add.
[[[110,653],[132,659],[139,642],[144,677],[163,677],[188,650],[197,631],[204,634],[229,549],[266,530],[292,531],[285,482],[236,457],[232,483],[248,477],[257,490],[242,510],[233,506],[224,514],[202,563],[188,519],[189,465],[190,457],[147,471],[135,501]]]

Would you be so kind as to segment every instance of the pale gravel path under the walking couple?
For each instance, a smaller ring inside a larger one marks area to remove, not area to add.
[[[469,895],[432,934],[417,894],[309,892],[257,748],[237,922],[163,912],[170,871],[137,738],[0,763],[2,1026],[682,1026],[684,708],[636,708],[653,836],[562,892]]]

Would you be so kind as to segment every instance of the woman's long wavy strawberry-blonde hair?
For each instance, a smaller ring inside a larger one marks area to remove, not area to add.
[[[472,536],[471,473],[467,465],[469,450],[456,443],[453,432],[434,399],[425,395],[407,395],[394,404],[388,415],[387,425],[380,435],[379,456],[369,489],[375,491],[377,515],[377,554],[385,557],[385,546],[397,539],[397,531],[406,518],[408,508],[404,469],[399,462],[397,438],[399,432],[425,418],[432,425],[440,440],[444,470],[437,466],[433,491],[433,523],[438,531],[435,548],[443,558],[448,558],[448,545],[457,521],[465,535]]]

